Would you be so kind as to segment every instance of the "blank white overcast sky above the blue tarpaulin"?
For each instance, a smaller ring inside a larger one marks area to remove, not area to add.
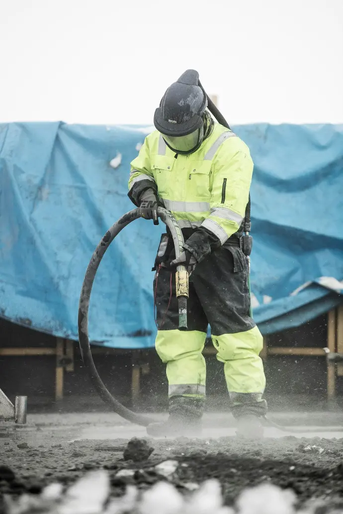
[[[0,0],[0,122],[152,124],[187,68],[229,123],[343,122],[343,0]]]

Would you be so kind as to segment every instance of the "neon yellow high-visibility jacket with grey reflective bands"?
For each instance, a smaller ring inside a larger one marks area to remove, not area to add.
[[[154,131],[131,162],[129,190],[157,187],[180,228],[205,227],[224,244],[243,221],[253,167],[247,145],[218,123],[190,155],[175,154]]]

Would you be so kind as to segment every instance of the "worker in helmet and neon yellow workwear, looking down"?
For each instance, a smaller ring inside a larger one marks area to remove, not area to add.
[[[164,206],[185,240],[175,259],[167,231],[155,261],[155,346],[167,364],[169,418],[147,431],[153,436],[201,432],[206,386],[202,351],[209,324],[216,357],[224,363],[237,434],[261,436],[267,408],[259,357],[263,340],[249,317],[248,259],[241,249],[253,163],[247,145],[214,122],[199,84],[198,73],[187,70],[168,87],[155,111],[156,131],[131,162],[129,197],[141,216],[158,224],[157,207]],[[178,330],[175,266],[180,264],[190,273],[187,331]]]

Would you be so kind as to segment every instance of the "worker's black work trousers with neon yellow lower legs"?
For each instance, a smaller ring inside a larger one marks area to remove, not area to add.
[[[265,415],[265,377],[259,357],[263,339],[249,317],[248,261],[240,247],[226,245],[214,250],[192,272],[187,331],[178,330],[174,270],[157,268],[154,297],[156,351],[167,364],[169,397],[205,397],[202,351],[210,324],[216,357],[224,363],[232,413],[236,417]]]

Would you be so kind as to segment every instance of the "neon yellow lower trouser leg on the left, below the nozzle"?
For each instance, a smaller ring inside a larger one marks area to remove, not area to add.
[[[205,339],[205,332],[157,332],[155,346],[160,359],[167,363],[169,396],[205,396],[206,364],[202,355]]]

